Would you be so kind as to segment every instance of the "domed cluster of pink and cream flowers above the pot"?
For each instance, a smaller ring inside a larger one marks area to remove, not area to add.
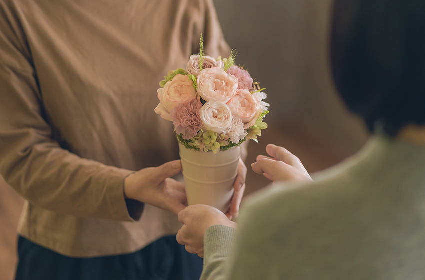
[[[185,70],[169,71],[159,83],[155,112],[173,122],[186,148],[217,153],[248,139],[257,141],[267,128],[264,88],[234,65],[234,57],[234,51],[224,59],[205,56],[201,35],[199,55],[190,57]]]

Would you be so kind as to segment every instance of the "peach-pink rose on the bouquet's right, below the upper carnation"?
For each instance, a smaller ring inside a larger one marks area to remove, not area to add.
[[[238,89],[227,105],[233,115],[242,120],[245,129],[254,125],[261,113],[258,99],[247,89]]]

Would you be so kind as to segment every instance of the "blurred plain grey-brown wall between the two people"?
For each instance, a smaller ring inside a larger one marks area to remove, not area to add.
[[[350,114],[329,68],[332,0],[215,0],[236,63],[245,65],[268,94],[274,125],[303,119],[354,153],[366,141],[363,123]]]

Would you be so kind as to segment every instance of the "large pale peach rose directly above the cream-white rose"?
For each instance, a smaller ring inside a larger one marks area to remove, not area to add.
[[[236,93],[237,78],[220,68],[204,69],[197,78],[199,95],[205,101],[227,103]]]

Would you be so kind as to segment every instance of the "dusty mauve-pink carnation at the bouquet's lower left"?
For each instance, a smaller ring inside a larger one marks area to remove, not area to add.
[[[199,110],[202,103],[197,100],[177,105],[171,111],[171,118],[174,124],[174,130],[177,134],[183,134],[183,139],[191,139],[197,135],[202,128]]]

